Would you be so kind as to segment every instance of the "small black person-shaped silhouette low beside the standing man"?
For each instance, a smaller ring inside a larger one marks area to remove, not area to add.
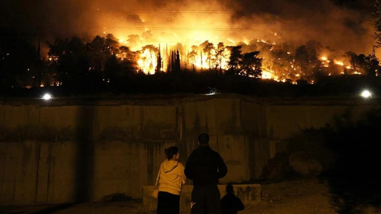
[[[221,199],[221,214],[237,214],[245,209],[242,201],[234,195],[233,186],[226,185],[226,195]]]

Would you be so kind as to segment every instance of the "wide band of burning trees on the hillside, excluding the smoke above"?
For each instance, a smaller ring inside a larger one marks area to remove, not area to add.
[[[144,33],[152,37],[149,30]],[[56,42],[50,46],[50,63],[59,62],[60,53],[54,52],[64,49],[59,45]],[[216,71],[293,84],[297,80],[304,80],[313,84],[322,76],[375,73],[379,67],[378,60],[371,55],[347,52],[343,56],[335,57],[335,51],[324,48],[314,40],[306,45],[254,38],[245,42],[231,40],[226,44],[205,40],[174,45],[159,42],[154,45],[150,40],[146,41],[144,36],[129,35],[128,40],[124,40],[107,34],[106,37],[97,36],[93,41],[85,43],[85,46],[91,50],[90,58],[94,59],[94,65],[90,65],[89,71],[101,71],[107,67],[115,69],[114,65],[107,65],[107,60],[104,61],[104,57],[115,56],[112,63],[121,63],[124,67],[131,67],[136,73],[146,75],[170,73],[174,70]]]

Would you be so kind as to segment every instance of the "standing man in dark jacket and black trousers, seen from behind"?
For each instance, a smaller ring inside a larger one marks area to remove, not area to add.
[[[199,135],[199,147],[189,155],[185,175],[193,180],[191,214],[221,214],[218,179],[226,176],[221,156],[209,147],[209,135]]]

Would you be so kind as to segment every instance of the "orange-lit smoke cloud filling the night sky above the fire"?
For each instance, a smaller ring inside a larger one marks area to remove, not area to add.
[[[200,10],[209,12],[193,13]],[[214,10],[222,14],[214,14]],[[31,41],[71,36],[91,38],[103,33],[101,27],[113,26],[137,27],[130,34],[152,38],[185,34],[175,32],[176,28],[189,26],[274,29],[209,33],[239,42],[243,38],[269,37],[280,30],[279,39],[284,41],[305,43],[315,39],[337,50],[368,52],[373,42],[371,10],[373,1],[363,0],[3,0],[0,28],[5,35]],[[190,19],[194,19],[193,23]],[[144,29],[140,28],[153,26],[168,29],[142,35]],[[128,29],[124,31],[129,34]],[[108,32],[121,34],[117,29],[107,29]]]

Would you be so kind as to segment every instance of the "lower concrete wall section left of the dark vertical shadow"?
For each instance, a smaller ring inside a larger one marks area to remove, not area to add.
[[[74,201],[74,142],[1,142],[0,148],[2,204]]]

